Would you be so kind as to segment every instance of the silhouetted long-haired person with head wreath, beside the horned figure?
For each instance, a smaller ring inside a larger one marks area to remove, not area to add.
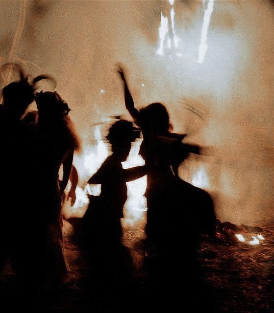
[[[38,108],[36,135],[36,175],[32,187],[34,214],[39,220],[35,227],[39,245],[38,259],[42,265],[43,284],[58,288],[66,276],[66,262],[63,251],[61,197],[68,183],[74,151],[80,147],[78,136],[68,113],[68,104],[57,92],[39,92],[35,96]],[[63,166],[63,178],[58,172]],[[40,248],[41,247],[41,248]],[[37,251],[36,250],[36,251]],[[39,255],[40,254],[40,255]]]

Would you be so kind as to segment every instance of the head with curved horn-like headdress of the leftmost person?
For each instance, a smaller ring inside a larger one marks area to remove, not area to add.
[[[12,70],[17,70],[20,76],[18,81],[14,81],[2,90],[3,104],[5,112],[9,117],[20,119],[25,113],[27,107],[34,100],[34,92],[37,88],[36,84],[42,79],[50,79],[56,84],[54,79],[49,75],[39,75],[29,82],[29,76],[25,73],[19,64],[4,64],[0,70],[5,67],[12,67]]]

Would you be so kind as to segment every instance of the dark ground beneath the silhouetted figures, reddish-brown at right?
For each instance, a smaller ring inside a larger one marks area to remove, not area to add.
[[[124,275],[94,283],[94,273],[84,251],[72,239],[70,227],[65,224],[65,254],[69,264],[69,279],[59,291],[35,296],[32,292],[16,289],[16,279],[10,265],[0,276],[1,312],[23,311],[37,313],[89,312],[194,312],[217,313],[274,313],[274,227],[263,228],[265,241],[251,246],[230,240],[204,240],[199,253],[203,269],[203,287],[191,291],[183,276],[172,278],[174,286],[158,288],[152,279],[147,261],[153,260],[153,250],[144,249],[144,234],[140,229],[127,229],[124,242],[130,248],[134,267]],[[246,232],[246,238],[252,233]],[[182,236],[178,260],[183,260],[184,246],[190,234]],[[145,257],[147,255],[147,257]],[[183,264],[183,262],[182,262]],[[188,269],[183,271],[187,273]],[[169,291],[176,292],[169,292]],[[195,295],[194,299],[191,294]],[[202,295],[201,295],[202,293]],[[6,307],[6,305],[8,305]],[[174,309],[174,306],[179,309]]]

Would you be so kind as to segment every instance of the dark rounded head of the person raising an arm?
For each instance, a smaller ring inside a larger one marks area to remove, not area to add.
[[[171,128],[169,113],[162,103],[151,103],[140,112],[143,131],[150,130],[154,134],[162,134]]]

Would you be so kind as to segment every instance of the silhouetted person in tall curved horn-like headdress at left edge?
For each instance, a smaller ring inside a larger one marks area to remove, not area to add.
[[[2,66],[1,69],[6,67]],[[29,82],[29,77],[23,69],[13,66],[20,75],[2,90],[3,105],[0,112],[0,144],[1,144],[1,178],[0,193],[2,201],[2,221],[0,227],[0,265],[7,256],[16,271],[17,280],[24,286],[25,246],[28,241],[27,229],[29,224],[28,199],[29,178],[33,136],[30,128],[22,119],[27,107],[34,99],[36,84],[41,79],[49,79],[47,75],[40,75]],[[51,79],[51,78],[50,78]],[[18,184],[18,182],[20,184]]]

